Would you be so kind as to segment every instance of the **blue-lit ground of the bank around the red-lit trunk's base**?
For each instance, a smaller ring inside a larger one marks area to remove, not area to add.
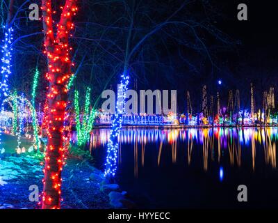
[[[28,155],[1,155],[0,209],[40,208],[29,201],[31,185],[42,192],[42,160]],[[106,192],[100,190],[101,179],[92,179],[95,171],[88,160],[70,157],[63,169],[62,208],[111,208]]]

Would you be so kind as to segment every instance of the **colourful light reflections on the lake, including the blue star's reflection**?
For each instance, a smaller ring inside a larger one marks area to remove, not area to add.
[[[109,134],[110,130],[107,129],[94,130],[91,135],[90,150],[105,148]],[[74,141],[74,136],[72,139]],[[247,151],[245,152],[245,162],[249,163],[252,160],[252,171],[255,171],[256,162],[261,162],[261,159],[266,165],[276,169],[277,139],[278,128],[126,129],[122,130],[118,137],[120,145],[118,163],[122,163],[122,153],[125,152],[123,146],[128,146],[128,148],[132,146],[134,176],[136,177],[138,177],[139,164],[140,167],[145,166],[145,153],[149,153],[150,150],[156,151],[156,153],[152,153],[152,159],[157,160],[157,167],[165,162],[165,158],[163,159],[165,155],[172,156],[172,164],[183,160],[190,166],[194,159],[200,158],[197,155],[199,151],[202,151],[201,159],[204,171],[208,171],[209,163],[220,164],[225,160],[228,160],[232,167],[241,167],[243,151]],[[257,158],[258,151],[263,154]],[[221,176],[223,176],[223,169]]]

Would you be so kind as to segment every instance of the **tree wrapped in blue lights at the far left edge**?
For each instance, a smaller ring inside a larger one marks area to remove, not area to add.
[[[28,3],[30,3],[30,1],[31,0],[24,0],[24,1],[23,0],[22,1],[2,0],[0,3],[1,6],[0,21],[1,21],[1,29],[3,31],[3,38],[2,38],[3,44],[1,45],[2,54],[1,54],[1,77],[0,77],[1,112],[4,109],[3,101],[6,100],[6,98],[10,94],[9,85],[12,84],[11,88],[13,89],[19,89],[22,88],[22,86],[26,85],[26,83],[22,82],[21,78],[15,78],[15,77],[24,77],[24,75],[22,75],[21,72],[23,72],[24,74],[28,73],[28,70],[24,69],[24,61],[22,59],[16,60],[17,54],[22,54],[22,50],[16,49],[16,52],[14,52],[13,48],[15,47],[15,44],[22,43],[22,45],[26,46],[26,43],[22,42],[25,38],[37,36],[38,34],[42,33],[42,32],[34,31],[33,28],[26,29],[26,27],[24,27],[24,29],[22,29],[22,26],[26,26],[26,22],[23,24],[22,21],[28,20],[28,16],[26,16],[28,15],[28,11],[26,11],[28,10],[28,7],[26,6],[28,6]],[[4,19],[5,17],[6,20]],[[17,30],[20,30],[20,33],[16,33],[17,38],[15,40],[13,38],[13,33],[14,33],[13,27],[16,27]],[[28,28],[31,28],[31,26]],[[26,58],[28,58],[28,56],[26,56],[27,53],[28,51],[26,51],[26,47],[25,47],[24,54]],[[21,63],[17,63],[17,62],[21,62]],[[17,69],[17,66],[20,67],[20,69]],[[34,66],[33,63],[31,63],[31,66]],[[19,73],[18,76],[17,73]],[[10,78],[12,75],[13,78]],[[0,129],[0,134],[1,134],[1,129]],[[1,135],[0,135],[0,144],[1,144]],[[38,139],[36,139],[36,144],[38,144]],[[1,151],[3,152],[4,149],[2,148]]]

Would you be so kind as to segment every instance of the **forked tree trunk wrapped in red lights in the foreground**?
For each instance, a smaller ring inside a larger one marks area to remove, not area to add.
[[[67,105],[67,82],[71,74],[72,62],[68,39],[73,29],[72,16],[76,13],[76,1],[66,0],[61,6],[60,22],[54,29],[51,0],[42,0],[44,25],[44,47],[48,59],[47,79],[49,80],[47,118],[47,152],[44,167],[44,191],[42,208],[60,208],[61,171],[64,162],[63,121]],[[56,34],[54,34],[56,30]]]

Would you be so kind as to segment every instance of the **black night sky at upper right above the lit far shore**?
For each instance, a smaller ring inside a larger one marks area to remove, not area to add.
[[[227,100],[229,90],[240,90],[244,105],[250,104],[250,83],[255,86],[256,106],[260,106],[263,91],[278,82],[278,32],[277,7],[275,1],[212,1],[222,13],[214,25],[234,41],[231,51],[218,55],[218,68],[214,70],[211,82],[206,79],[211,94],[218,89],[217,80],[222,79],[220,92],[222,104]],[[246,3],[248,21],[238,21],[237,6]],[[195,82],[197,85],[197,82]],[[275,89],[277,94],[277,89]],[[197,103],[200,101],[197,98]],[[196,105],[198,107],[198,105]]]

